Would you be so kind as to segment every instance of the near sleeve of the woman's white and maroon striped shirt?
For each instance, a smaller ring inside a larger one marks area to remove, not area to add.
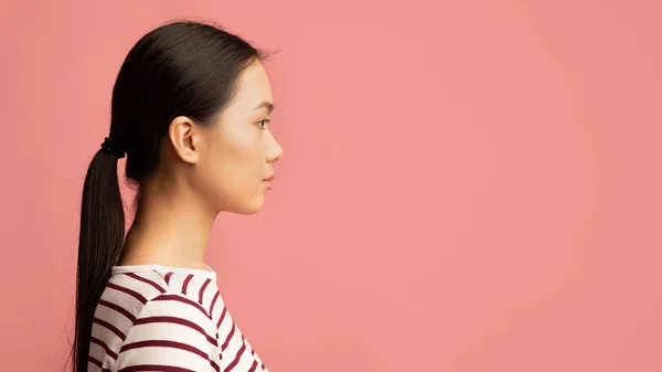
[[[136,318],[116,371],[218,372],[218,342],[206,311],[183,295],[162,294]]]

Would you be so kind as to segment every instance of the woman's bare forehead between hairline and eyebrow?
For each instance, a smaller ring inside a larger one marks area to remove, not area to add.
[[[238,78],[238,89],[235,96],[235,105],[242,108],[253,109],[259,103],[274,102],[269,77],[264,66],[255,62],[246,67]]]

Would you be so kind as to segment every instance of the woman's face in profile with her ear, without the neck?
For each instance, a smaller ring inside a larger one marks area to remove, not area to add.
[[[170,139],[186,168],[186,183],[213,212],[258,212],[269,190],[265,179],[274,176],[274,163],[282,148],[269,131],[271,87],[260,62],[254,62],[238,78],[238,91],[216,123],[199,126],[175,118]],[[179,121],[178,121],[179,120]]]

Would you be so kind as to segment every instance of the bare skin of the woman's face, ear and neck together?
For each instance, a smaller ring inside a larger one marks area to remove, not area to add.
[[[282,148],[268,129],[273,103],[259,62],[212,126],[177,117],[163,139],[161,166],[141,187],[138,214],[118,265],[157,264],[207,269],[204,256],[220,212],[257,213]],[[268,105],[267,105],[268,106]]]

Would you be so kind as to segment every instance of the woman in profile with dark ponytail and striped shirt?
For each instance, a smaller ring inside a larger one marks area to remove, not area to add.
[[[218,212],[259,211],[282,157],[265,59],[197,22],[162,25],[127,55],[83,190],[74,371],[267,371],[204,264]]]

